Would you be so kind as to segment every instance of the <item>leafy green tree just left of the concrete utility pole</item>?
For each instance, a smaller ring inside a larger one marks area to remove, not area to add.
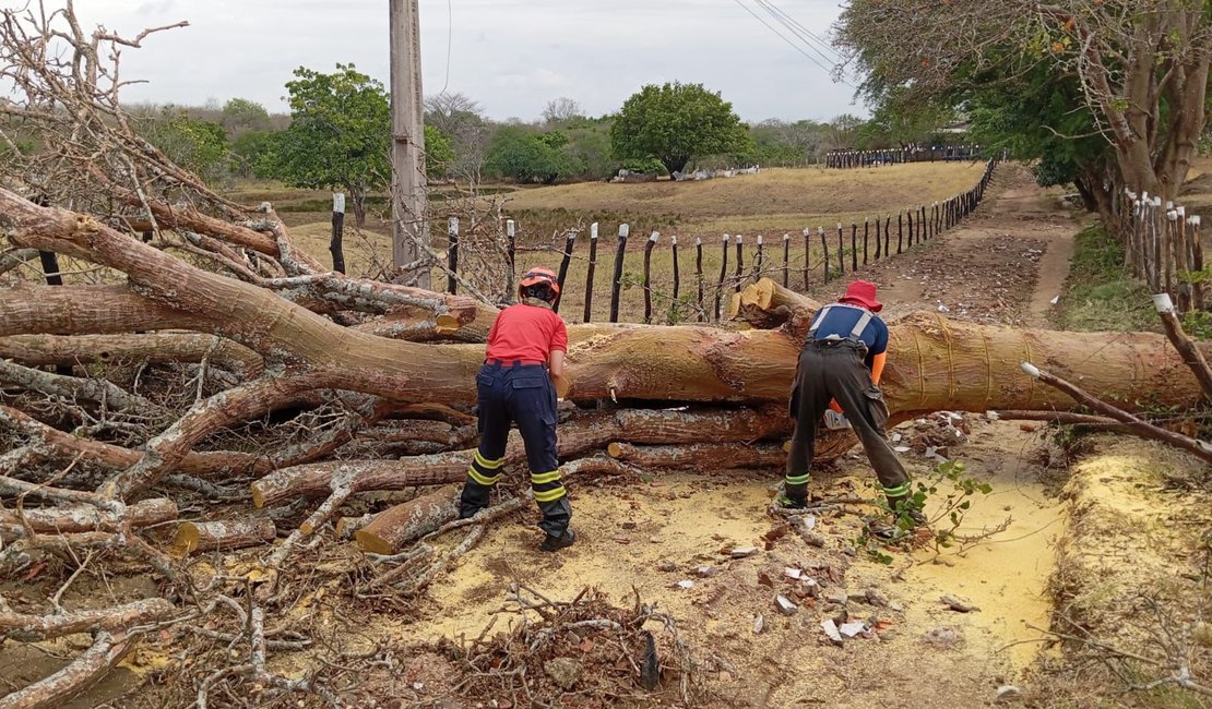
[[[366,194],[391,181],[391,110],[383,85],[353,64],[332,74],[295,70],[291,125],[274,150],[276,177],[295,186],[349,194],[358,226],[366,221]]]

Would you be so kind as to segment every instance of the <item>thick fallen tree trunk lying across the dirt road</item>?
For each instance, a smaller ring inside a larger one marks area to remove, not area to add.
[[[470,402],[479,346],[417,345],[342,328],[252,284],[195,269],[86,217],[0,190],[19,246],[57,250],[126,272],[141,294],[205,321],[327,386],[400,400]],[[1048,409],[1071,405],[1018,369],[1047,362],[1122,402],[1194,403],[1194,376],[1157,335],[1013,330],[916,316],[891,327],[885,393],[893,410]],[[782,332],[701,327],[571,328],[571,397],[578,400],[782,402],[800,342]],[[1091,352],[1098,352],[1097,358]]]

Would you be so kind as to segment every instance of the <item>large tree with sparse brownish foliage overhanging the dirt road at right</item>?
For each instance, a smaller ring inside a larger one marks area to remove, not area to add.
[[[1103,177],[1138,192],[1177,195],[1206,122],[1206,0],[851,0],[836,36],[873,99],[954,97],[1036,69],[1071,76],[1113,151],[1116,169]]]

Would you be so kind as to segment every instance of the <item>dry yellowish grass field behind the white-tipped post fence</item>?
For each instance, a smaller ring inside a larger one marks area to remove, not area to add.
[[[714,312],[714,288],[720,279],[722,235],[744,235],[745,275],[753,275],[758,260],[756,236],[765,235],[766,271],[782,278],[783,234],[790,232],[791,283],[804,284],[805,242],[800,232],[824,226],[829,237],[831,264],[836,269],[836,223],[846,224],[846,248],[850,248],[850,224],[862,223],[865,215],[896,213],[924,203],[943,200],[972,188],[981,178],[983,163],[916,163],[854,171],[771,169],[756,175],[715,179],[702,183],[583,183],[551,188],[527,188],[503,192],[504,213],[519,226],[519,243],[538,250],[519,253],[519,270],[532,265],[556,267],[564,249],[564,230],[600,223],[598,267],[594,279],[594,321],[605,321],[610,313],[610,283],[617,248],[619,223],[631,226],[631,237],[623,265],[624,282],[631,284],[621,299],[622,321],[641,321],[644,289],[639,286],[644,272],[642,247],[651,231],[659,231],[658,246],[652,253],[653,322],[696,319],[697,276],[694,236],[701,235],[703,248],[704,306]],[[279,204],[281,217],[291,227],[299,246],[327,261],[330,215],[326,212],[297,211],[299,207],[322,204],[326,192],[303,192],[257,185],[236,192],[242,201],[270,200]],[[351,220],[347,220],[347,224]],[[896,229],[896,218],[892,219]],[[440,220],[433,229],[435,243],[444,234]],[[381,214],[368,215],[367,227],[360,232],[347,227],[344,252],[350,273],[376,275],[390,263],[388,225]],[[673,252],[670,236],[679,238],[681,288],[673,298]],[[874,240],[874,225],[873,225]],[[587,231],[578,238],[568,270],[565,298],[560,315],[568,322],[581,322],[585,298],[589,260]],[[893,248],[896,236],[892,237]],[[871,244],[874,255],[874,242]],[[816,235],[811,238],[811,278],[819,282],[822,253]],[[859,255],[859,260],[862,256]],[[846,269],[850,269],[850,258]],[[730,246],[727,293],[734,289],[736,246]],[[435,272],[435,283],[445,276]]]

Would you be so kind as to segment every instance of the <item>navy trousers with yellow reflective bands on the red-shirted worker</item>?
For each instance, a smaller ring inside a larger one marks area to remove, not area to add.
[[[541,364],[488,363],[475,376],[480,407],[480,446],[467,471],[461,496],[461,517],[471,517],[488,506],[488,492],[501,480],[505,442],[514,423],[526,444],[531,489],[543,512],[539,526],[561,536],[568,529],[572,506],[560,480],[555,439],[555,387]]]

